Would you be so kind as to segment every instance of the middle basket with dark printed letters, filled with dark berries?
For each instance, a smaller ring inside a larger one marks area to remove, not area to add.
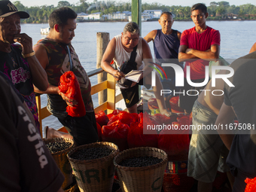
[[[95,142],[69,151],[68,158],[81,192],[111,192],[114,182],[114,157],[117,145]]]

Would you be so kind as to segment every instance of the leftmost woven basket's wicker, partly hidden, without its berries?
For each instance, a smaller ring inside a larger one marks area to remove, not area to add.
[[[62,188],[65,189],[70,184],[72,184],[72,167],[69,163],[67,154],[69,151],[74,148],[74,141],[72,139],[67,138],[52,138],[52,139],[44,139],[44,143],[47,144],[49,142],[71,142],[72,146],[69,148],[66,148],[65,150],[59,151],[57,153],[51,154],[53,156],[53,159],[55,160],[57,166],[65,176],[65,181],[62,184]]]

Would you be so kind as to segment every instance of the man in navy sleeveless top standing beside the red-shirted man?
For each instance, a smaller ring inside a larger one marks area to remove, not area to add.
[[[147,42],[154,42],[154,56],[156,62],[161,63],[176,63],[183,68],[181,63],[178,62],[178,47],[181,39],[181,32],[172,29],[173,18],[172,13],[164,11],[160,20],[158,20],[162,29],[156,29],[148,33],[145,36]],[[166,72],[168,79],[161,79],[164,90],[176,90],[179,88],[175,87],[175,72],[171,67],[163,67]],[[172,94],[164,94],[167,108],[170,108],[169,99]]]

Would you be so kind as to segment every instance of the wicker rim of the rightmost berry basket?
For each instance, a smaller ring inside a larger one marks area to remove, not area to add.
[[[129,167],[129,166],[120,166],[120,165],[117,164],[116,160],[118,159],[118,157],[120,157],[123,154],[129,153],[130,151],[138,151],[138,150],[139,151],[146,151],[146,150],[156,151],[156,152],[159,152],[159,153],[163,154],[164,158],[160,163],[157,163],[157,164],[154,164],[154,165],[151,165],[151,166]],[[124,170],[127,170],[127,171],[128,170],[129,171],[144,171],[144,170],[156,169],[160,166],[163,166],[164,164],[167,163],[167,161],[168,161],[168,156],[167,156],[166,152],[163,151],[162,149],[160,149],[160,148],[151,148],[151,147],[141,147],[141,148],[130,148],[130,149],[126,149],[126,150],[120,152],[119,154],[117,154],[116,157],[114,157],[113,163],[114,163],[114,166],[117,169],[124,169]]]

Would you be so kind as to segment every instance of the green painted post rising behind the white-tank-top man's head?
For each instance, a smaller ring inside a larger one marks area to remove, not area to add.
[[[132,21],[139,25],[142,34],[142,0],[132,0]]]

